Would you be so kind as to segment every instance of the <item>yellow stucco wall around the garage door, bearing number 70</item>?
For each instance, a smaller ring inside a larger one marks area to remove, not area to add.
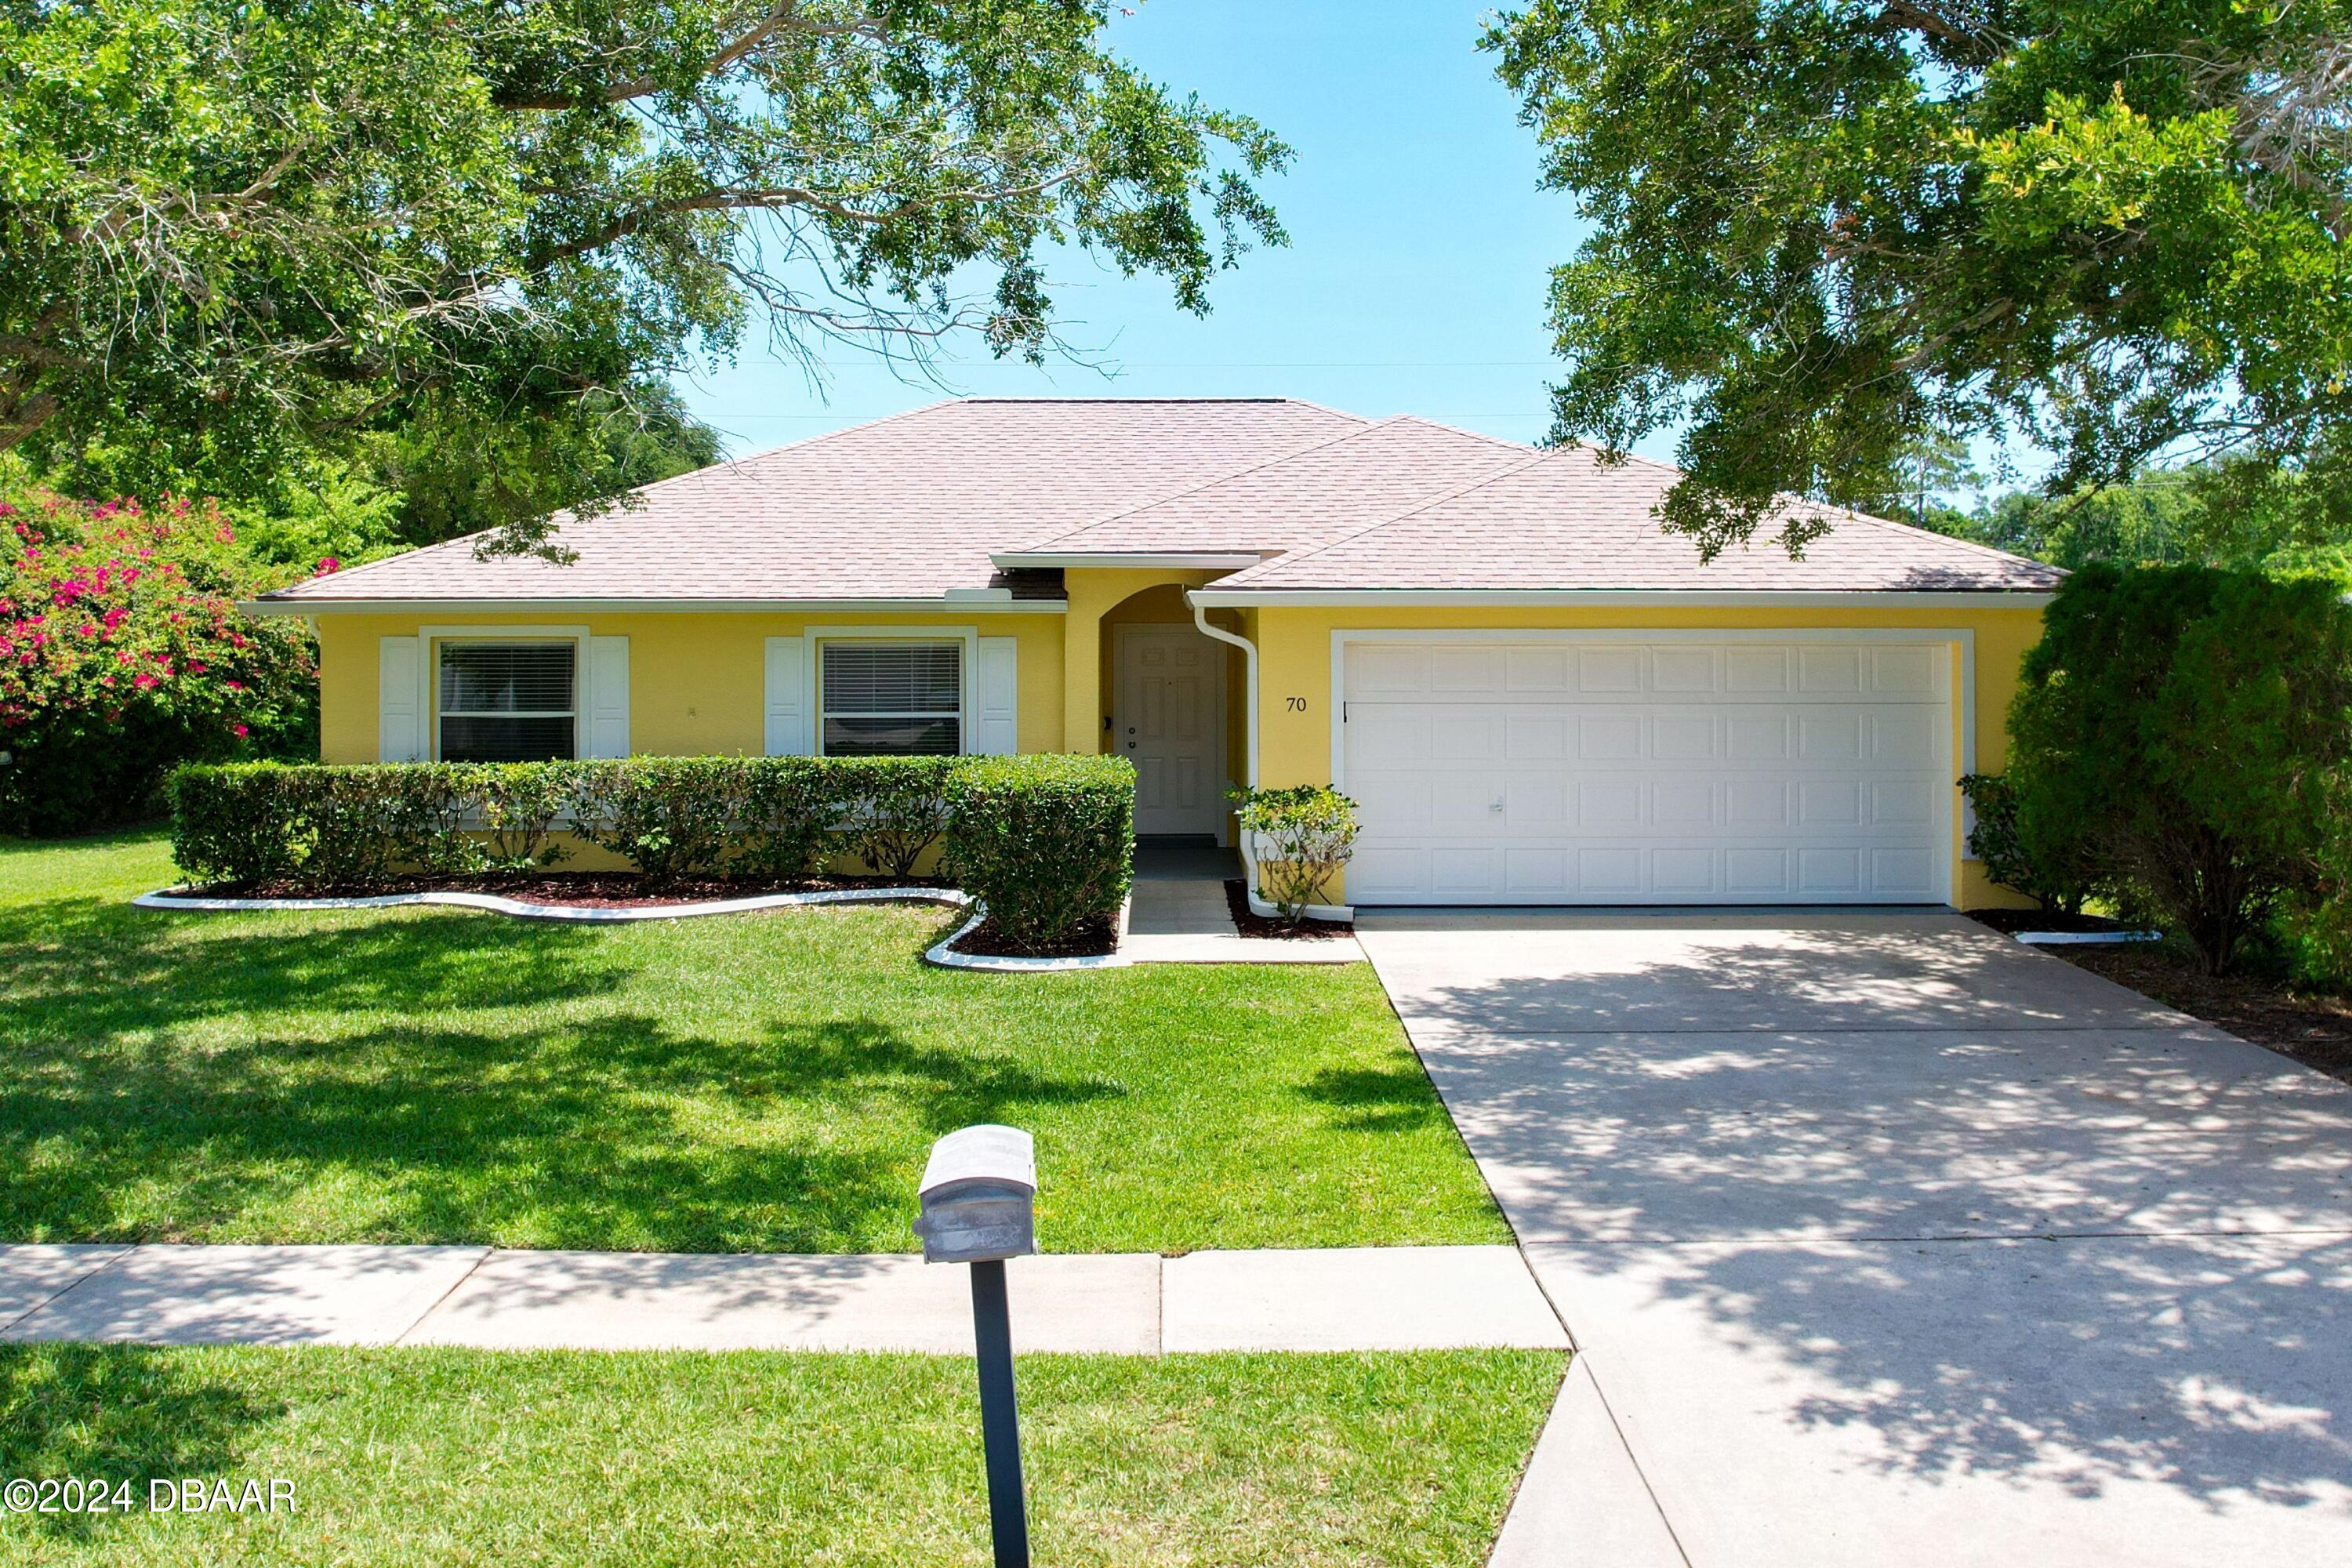
[[[1797,628],[1931,628],[1976,632],[1976,769],[1994,773],[2009,750],[2004,719],[2018,684],[2018,661],[2042,635],[2039,609],[1522,609],[1522,607],[1301,607],[1258,609],[1258,726],[1261,776],[1268,785],[1331,780],[1331,632],[1338,630],[1797,630]],[[1959,691],[1955,654],[1952,689]],[[1298,701],[1294,708],[1291,701]],[[1959,726],[1962,703],[1952,703]],[[1955,764],[1969,748],[1952,738]],[[1957,766],[1955,766],[1957,776]],[[1962,858],[1962,811],[1955,790],[1952,858],[1959,907],[2025,905],[1994,886],[1985,867]]]

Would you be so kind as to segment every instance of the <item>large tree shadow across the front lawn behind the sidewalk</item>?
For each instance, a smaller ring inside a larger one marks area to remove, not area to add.
[[[929,1135],[1120,1093],[873,1020],[750,1041],[649,1013],[388,1027],[134,1070],[35,1046],[0,1086],[0,1234],[903,1251]]]

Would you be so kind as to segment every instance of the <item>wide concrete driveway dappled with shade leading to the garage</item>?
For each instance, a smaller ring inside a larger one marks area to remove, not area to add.
[[[1367,914],[1578,1368],[1498,1561],[2352,1563],[2352,1088],[1957,914]]]

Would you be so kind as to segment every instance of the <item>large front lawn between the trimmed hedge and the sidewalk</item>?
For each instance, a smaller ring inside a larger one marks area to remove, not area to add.
[[[1371,971],[974,976],[938,910],[172,914],[0,842],[0,1241],[906,1251],[1037,1135],[1051,1251],[1508,1241]]]

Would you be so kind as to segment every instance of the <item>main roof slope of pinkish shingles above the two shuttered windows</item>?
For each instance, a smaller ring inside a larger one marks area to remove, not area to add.
[[[381,599],[936,599],[1065,534],[1367,421],[1289,397],[967,397],[647,484],[567,520],[567,567],[470,541],[266,595]]]

